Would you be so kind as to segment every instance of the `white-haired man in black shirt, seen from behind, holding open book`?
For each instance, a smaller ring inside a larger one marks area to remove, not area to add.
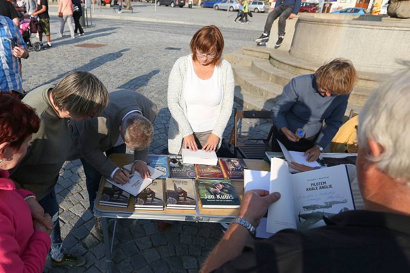
[[[410,68],[374,91],[360,113],[356,165],[364,210],[267,240],[233,223],[201,272],[410,272],[409,100]],[[249,191],[238,217],[256,227],[279,197]]]

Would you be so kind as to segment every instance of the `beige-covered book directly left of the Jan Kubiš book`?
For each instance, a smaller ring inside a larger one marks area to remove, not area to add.
[[[167,208],[195,209],[195,185],[193,179],[167,178]]]

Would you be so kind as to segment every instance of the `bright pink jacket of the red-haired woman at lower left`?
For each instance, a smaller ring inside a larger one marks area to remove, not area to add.
[[[43,272],[50,236],[33,228],[26,190],[15,190],[9,172],[0,170],[0,273]]]

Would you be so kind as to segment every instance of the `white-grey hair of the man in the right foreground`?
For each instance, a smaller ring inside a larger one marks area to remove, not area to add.
[[[367,148],[372,139],[383,148],[367,159],[398,182],[410,185],[410,66],[394,75],[367,99],[359,115],[358,141]]]

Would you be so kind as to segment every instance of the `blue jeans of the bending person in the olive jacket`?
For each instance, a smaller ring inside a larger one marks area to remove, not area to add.
[[[49,193],[42,200],[39,200],[38,203],[44,208],[44,212],[48,213],[51,216],[51,219],[53,220],[54,226],[50,234],[51,249],[50,249],[49,255],[51,259],[59,260],[63,258],[64,251],[63,251],[63,240],[61,240],[61,233],[60,233],[60,222],[58,218],[59,216],[58,203],[55,197],[54,189],[51,191],[51,193]]]

